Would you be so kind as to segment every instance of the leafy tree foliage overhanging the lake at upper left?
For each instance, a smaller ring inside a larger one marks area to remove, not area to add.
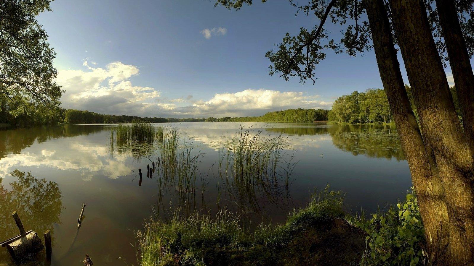
[[[45,30],[36,21],[51,11],[51,0],[2,0],[0,2],[0,93],[33,105],[59,106],[61,87],[54,81],[55,52]]]

